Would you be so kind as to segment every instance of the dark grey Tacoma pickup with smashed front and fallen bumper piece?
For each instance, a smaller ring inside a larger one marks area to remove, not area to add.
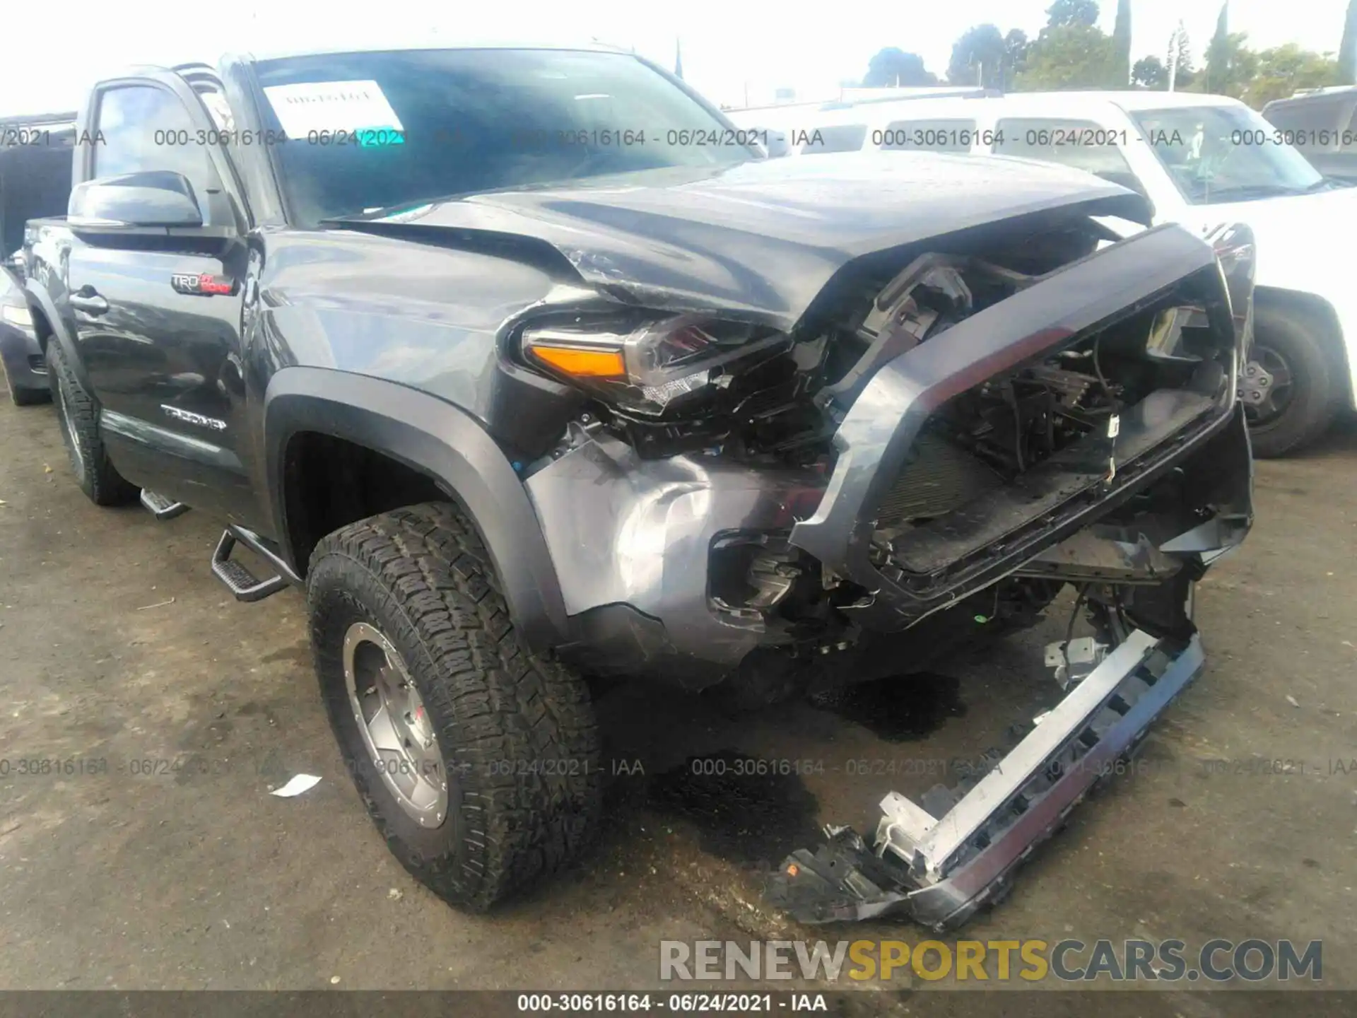
[[[449,903],[588,843],[586,679],[772,698],[874,641],[908,673],[1072,585],[1095,635],[1003,766],[772,880],[944,926],[1201,668],[1193,582],[1251,524],[1247,232],[761,141],[627,53],[232,57],[99,83],[28,224],[80,486],[221,517],[242,600],[305,590],[346,763]]]

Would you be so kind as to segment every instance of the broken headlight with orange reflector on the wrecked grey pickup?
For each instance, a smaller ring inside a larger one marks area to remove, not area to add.
[[[706,315],[624,323],[569,322],[522,331],[529,364],[562,377],[609,406],[642,417],[700,404],[734,376],[791,346],[767,326]]]

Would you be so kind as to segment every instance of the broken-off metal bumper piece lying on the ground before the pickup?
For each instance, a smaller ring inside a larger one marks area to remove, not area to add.
[[[870,847],[852,828],[826,828],[824,846],[792,852],[772,875],[769,901],[803,923],[902,913],[939,932],[961,926],[1007,890],[1204,664],[1200,635],[1185,645],[1132,631],[978,780],[959,794],[936,787],[924,805],[890,793]]]

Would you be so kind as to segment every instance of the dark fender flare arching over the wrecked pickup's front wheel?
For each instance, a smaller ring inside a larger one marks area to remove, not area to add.
[[[514,627],[533,650],[567,642],[565,600],[541,524],[513,466],[463,410],[395,381],[330,368],[277,372],[263,403],[267,497],[285,559],[299,576],[284,504],[284,453],[299,432],[364,445],[433,478],[471,517]]]

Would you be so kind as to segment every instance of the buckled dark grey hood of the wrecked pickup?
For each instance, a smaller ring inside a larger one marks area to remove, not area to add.
[[[883,153],[651,170],[493,191],[345,220],[440,243],[547,244],[581,280],[653,307],[738,309],[791,326],[849,261],[1079,202],[1143,217],[1140,198],[1063,167]]]

